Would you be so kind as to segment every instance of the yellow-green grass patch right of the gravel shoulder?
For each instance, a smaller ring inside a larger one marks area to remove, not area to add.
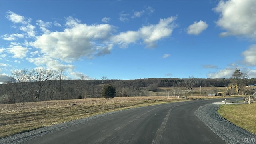
[[[218,113],[233,124],[256,134],[256,103],[222,105]]]

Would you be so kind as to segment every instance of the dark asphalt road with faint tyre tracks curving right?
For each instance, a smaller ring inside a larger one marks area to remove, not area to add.
[[[194,112],[217,100],[133,108],[101,116],[25,144],[226,144]]]

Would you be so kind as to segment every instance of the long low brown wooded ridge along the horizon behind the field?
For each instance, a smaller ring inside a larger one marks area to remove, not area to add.
[[[146,78],[136,80],[46,80],[39,82],[6,82],[0,84],[0,103],[33,102],[102,97],[104,84],[113,84],[116,96],[150,96],[151,91],[162,88],[185,88],[189,78]],[[226,87],[231,79],[194,78],[194,87]],[[256,78],[246,79],[246,84],[256,84]],[[215,91],[216,92],[216,89]],[[169,93],[169,91],[168,91]],[[210,92],[209,92],[210,93]],[[170,91],[170,96],[182,92]],[[159,96],[161,93],[159,93]]]

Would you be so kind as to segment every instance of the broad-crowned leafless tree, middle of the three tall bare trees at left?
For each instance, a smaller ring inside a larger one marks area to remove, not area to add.
[[[41,92],[44,92],[47,88],[47,86],[45,86],[46,81],[50,80],[53,76],[54,76],[54,71],[53,70],[46,70],[46,69],[33,69],[32,70],[31,78],[36,84],[36,88],[35,88],[36,96],[35,96],[35,98],[37,99],[37,101],[40,98]]]

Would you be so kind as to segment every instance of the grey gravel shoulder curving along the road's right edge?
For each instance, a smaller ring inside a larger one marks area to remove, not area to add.
[[[206,104],[200,106],[195,115],[228,144],[255,144],[256,135],[222,118],[217,112],[218,108],[217,104]]]

